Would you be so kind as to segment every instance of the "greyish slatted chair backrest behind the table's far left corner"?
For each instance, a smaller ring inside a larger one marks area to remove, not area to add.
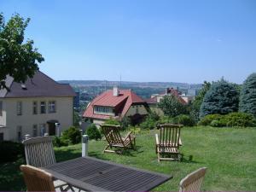
[[[51,137],[32,137],[23,141],[26,164],[30,166],[49,166],[55,163],[55,152]]]

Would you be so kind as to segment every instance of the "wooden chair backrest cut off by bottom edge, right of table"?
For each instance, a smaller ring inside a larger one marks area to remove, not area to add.
[[[202,167],[195,172],[191,172],[180,181],[179,191],[200,191],[206,172],[207,167]]]

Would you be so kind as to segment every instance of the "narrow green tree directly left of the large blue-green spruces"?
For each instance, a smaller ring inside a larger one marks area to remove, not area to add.
[[[192,102],[190,115],[193,117],[195,122],[197,122],[199,120],[201,103],[203,102],[203,99],[204,99],[207,91],[210,89],[210,87],[211,87],[211,83],[204,81],[202,89],[200,90],[198,95],[195,96],[195,100]]]

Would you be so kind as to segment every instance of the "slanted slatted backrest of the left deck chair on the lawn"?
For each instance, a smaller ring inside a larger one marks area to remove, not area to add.
[[[101,125],[101,127],[102,127],[102,132],[110,145],[111,144],[124,145],[124,141],[119,132],[121,129],[119,125]]]

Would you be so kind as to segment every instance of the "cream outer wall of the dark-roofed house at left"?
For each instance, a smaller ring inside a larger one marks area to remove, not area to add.
[[[40,125],[46,125],[48,132],[47,121],[50,119],[58,120],[61,124],[61,131],[66,130],[73,125],[73,97],[26,97],[26,98],[3,98],[4,119],[6,128],[4,130],[5,140],[17,140],[17,127],[22,126],[22,137],[26,134],[33,135],[33,125],[38,125],[38,136],[40,136]],[[17,102],[22,102],[22,115],[17,115]],[[48,112],[48,102],[55,101],[55,113]],[[33,102],[38,102],[38,113],[33,114]],[[40,102],[46,102],[46,113],[40,113]],[[6,134],[8,131],[8,134]]]

